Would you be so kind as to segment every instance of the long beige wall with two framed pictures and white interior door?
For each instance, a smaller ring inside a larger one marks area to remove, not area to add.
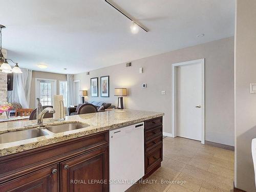
[[[114,88],[127,88],[125,108],[164,112],[164,132],[172,133],[172,63],[205,58],[206,140],[234,145],[233,47],[234,38],[230,37],[138,59],[129,68],[121,63],[74,78],[80,80],[80,89],[89,90],[90,95],[90,78],[109,75],[110,97],[89,96],[88,100],[116,103]],[[139,74],[140,67],[143,74]],[[142,83],[147,83],[147,88],[143,89]],[[166,91],[166,95],[161,95],[161,91]]]

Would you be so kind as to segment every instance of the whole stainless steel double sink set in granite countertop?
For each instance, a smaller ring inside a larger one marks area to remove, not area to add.
[[[43,127],[42,129],[34,128],[29,130],[3,133],[3,134],[0,134],[0,144],[46,136],[52,133],[61,133],[61,132],[66,132],[71,130],[77,130],[77,129],[85,128],[88,126],[89,126],[88,124],[83,124],[83,123],[63,123],[63,124],[49,125],[49,126]]]

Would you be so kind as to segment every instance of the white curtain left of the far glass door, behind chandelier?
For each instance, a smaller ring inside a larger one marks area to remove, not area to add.
[[[17,102],[22,108],[29,108],[32,70],[22,69],[23,73],[13,73],[13,91],[8,91],[8,102]]]

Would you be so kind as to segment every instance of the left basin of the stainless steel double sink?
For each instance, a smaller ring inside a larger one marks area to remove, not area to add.
[[[0,134],[0,143],[9,143],[13,141],[31,139],[31,138],[45,136],[45,135],[49,135],[49,134],[38,129],[8,132],[8,133]]]

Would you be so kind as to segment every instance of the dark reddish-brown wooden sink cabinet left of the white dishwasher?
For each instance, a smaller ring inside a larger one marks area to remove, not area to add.
[[[0,157],[0,167],[1,192],[108,192],[109,132]]]

